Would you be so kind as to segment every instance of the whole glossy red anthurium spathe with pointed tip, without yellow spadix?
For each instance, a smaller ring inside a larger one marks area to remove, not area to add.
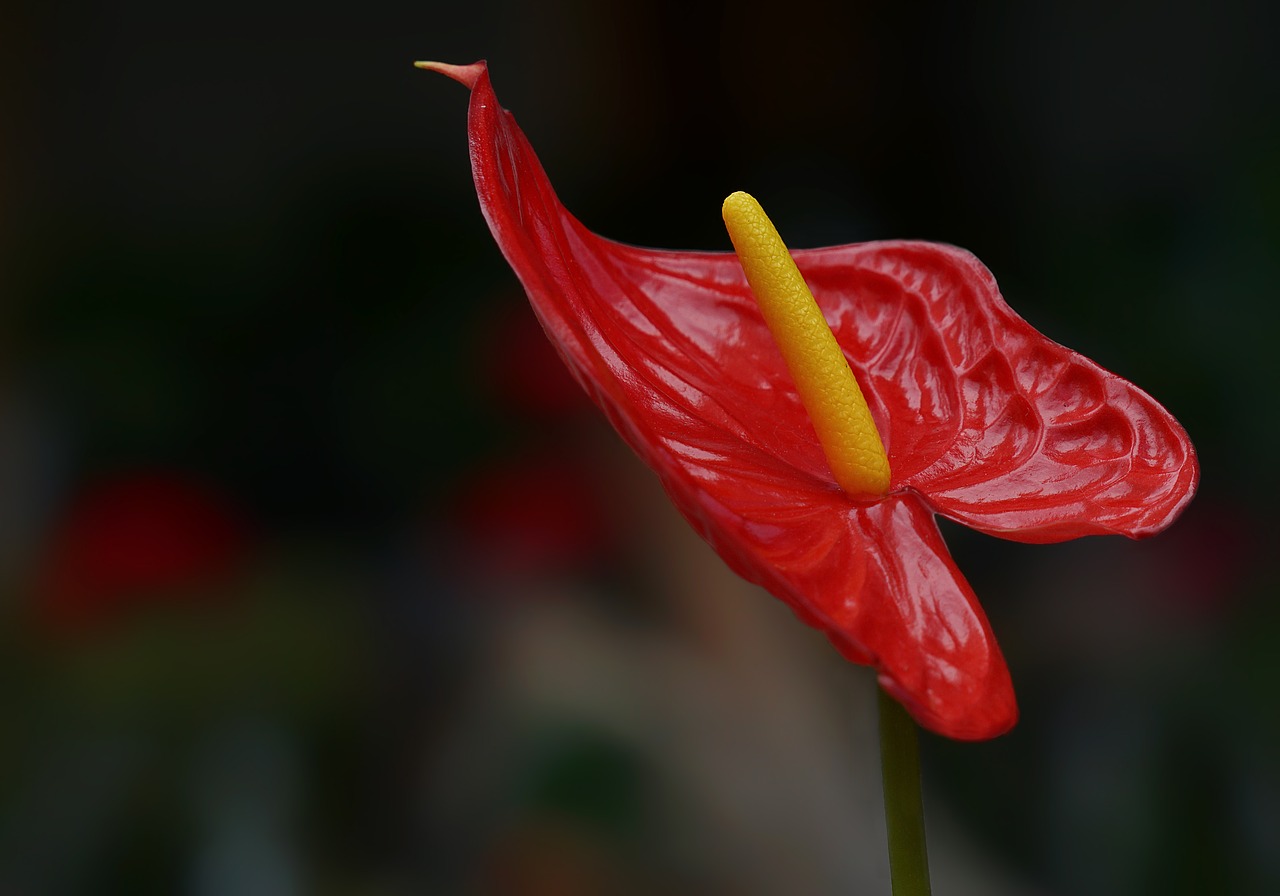
[[[484,63],[471,90],[480,206],[579,383],[741,576],[786,600],[927,728],[979,740],[1018,710],[934,515],[1019,541],[1151,535],[1198,479],[1152,398],[1015,315],[970,253],[920,242],[795,261],[867,397],[892,470],[842,490],[732,253],[635,248],[559,204]]]

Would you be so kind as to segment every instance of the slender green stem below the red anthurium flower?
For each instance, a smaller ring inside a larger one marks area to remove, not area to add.
[[[881,776],[893,896],[929,896],[929,856],[924,849],[920,800],[920,745],[915,722],[879,689]]]

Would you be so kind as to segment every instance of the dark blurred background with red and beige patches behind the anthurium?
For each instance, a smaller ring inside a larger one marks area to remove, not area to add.
[[[873,684],[724,571],[479,214],[965,246],[1160,398],[1144,543],[954,526],[1023,708],[925,736],[938,893],[1280,892],[1277,8],[0,12],[0,892],[887,892]]]

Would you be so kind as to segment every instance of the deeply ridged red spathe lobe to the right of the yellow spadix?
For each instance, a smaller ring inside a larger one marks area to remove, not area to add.
[[[896,488],[1020,541],[1149,535],[1194,494],[1178,421],[1034,330],[972,253],[876,242],[796,260],[888,421]]]

